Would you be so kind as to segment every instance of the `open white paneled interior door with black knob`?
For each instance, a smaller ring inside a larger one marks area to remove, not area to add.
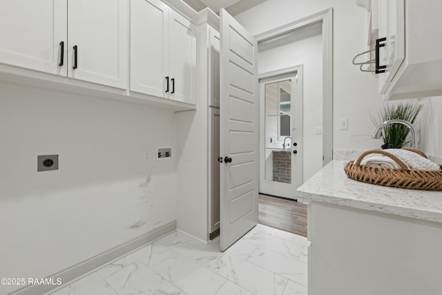
[[[258,43],[220,11],[220,249],[258,223]]]

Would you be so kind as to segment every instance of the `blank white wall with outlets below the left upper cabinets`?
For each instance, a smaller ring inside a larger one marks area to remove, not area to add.
[[[155,160],[155,146],[175,147],[173,112],[9,86],[0,97],[2,277],[44,278],[175,220],[175,159]],[[37,172],[51,154],[59,170]]]

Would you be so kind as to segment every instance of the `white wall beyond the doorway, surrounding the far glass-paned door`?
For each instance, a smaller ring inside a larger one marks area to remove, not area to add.
[[[289,68],[302,64],[303,72],[303,179],[309,179],[323,166],[323,136],[314,134],[323,126],[323,43],[322,36],[310,37],[292,44],[259,53],[258,72]],[[292,111],[296,112],[296,111]]]

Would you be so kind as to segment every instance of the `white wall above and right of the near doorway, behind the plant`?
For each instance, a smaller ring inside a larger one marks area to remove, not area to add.
[[[236,15],[236,19],[257,35],[328,8],[334,9],[334,149],[377,148],[381,142],[371,138],[374,125],[369,117],[383,106],[377,79],[352,65],[353,57],[367,50],[364,8],[356,6],[354,0],[268,0]],[[306,110],[305,115],[311,113]],[[340,117],[348,118],[348,130],[339,130]]]

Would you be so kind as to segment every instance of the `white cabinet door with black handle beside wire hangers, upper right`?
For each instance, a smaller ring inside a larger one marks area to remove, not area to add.
[[[405,0],[379,1],[379,38],[385,37],[381,47],[380,65],[385,73],[379,75],[379,92],[385,93],[405,59]]]

